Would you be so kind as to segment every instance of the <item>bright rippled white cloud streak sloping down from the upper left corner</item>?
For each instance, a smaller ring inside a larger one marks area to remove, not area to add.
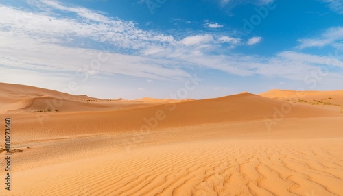
[[[58,42],[73,42],[75,38],[87,38],[97,42],[108,42],[118,48],[141,49],[151,42],[174,42],[172,36],[147,32],[131,21],[110,19],[86,8],[67,8],[53,1],[43,1],[52,8],[74,12],[80,19],[29,13],[0,4],[0,29],[10,29],[13,34],[32,37],[54,38]]]

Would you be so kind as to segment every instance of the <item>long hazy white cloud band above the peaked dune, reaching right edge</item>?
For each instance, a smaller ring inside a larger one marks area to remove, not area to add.
[[[178,55],[176,56],[176,53]],[[301,81],[321,66],[342,66],[343,62],[331,56],[314,56],[305,53],[287,51],[274,57],[249,55],[209,55],[196,56],[187,49],[165,52],[161,56],[168,59],[182,60],[184,66],[215,69],[233,75],[283,77]],[[331,71],[334,72],[334,71]]]

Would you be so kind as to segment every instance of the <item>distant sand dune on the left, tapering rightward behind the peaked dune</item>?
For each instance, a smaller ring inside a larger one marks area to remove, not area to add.
[[[151,99],[153,100],[153,99]],[[157,99],[156,99],[157,100]],[[175,100],[179,101],[179,100]],[[97,99],[86,95],[70,95],[55,90],[0,83],[0,114],[7,112],[80,112],[123,110],[175,102],[173,99],[141,101]],[[183,101],[183,100],[180,100]]]

